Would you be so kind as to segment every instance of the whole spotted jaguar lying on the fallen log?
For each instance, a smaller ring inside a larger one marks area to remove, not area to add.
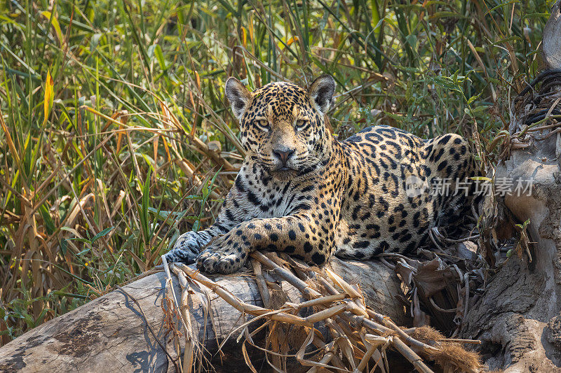
[[[238,80],[227,80],[245,160],[215,223],[183,234],[168,261],[231,273],[255,250],[282,251],[318,266],[332,255],[408,253],[431,227],[467,211],[466,193],[407,191],[412,177],[425,184],[450,178],[454,191],[455,180],[473,176],[465,139],[445,134],[423,140],[376,126],[339,141],[324,122],[334,87],[330,76],[309,90],[270,83],[248,92]]]

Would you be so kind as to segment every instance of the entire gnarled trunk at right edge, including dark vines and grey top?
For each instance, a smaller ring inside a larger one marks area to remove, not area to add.
[[[560,6],[561,0],[557,0],[543,30],[547,69],[561,69]],[[513,137],[529,125],[539,125],[528,119],[532,115],[559,112],[561,78],[557,71],[540,74],[550,74],[546,88],[534,86],[537,92],[529,94],[529,98],[522,97],[525,101],[513,101]],[[512,216],[517,223],[529,221],[526,233],[532,242],[528,251],[532,259],[527,253],[522,253],[522,258],[512,255],[489,281],[485,294],[466,318],[462,335],[482,341],[480,351],[492,370],[558,372],[561,367],[559,125],[559,120],[550,120],[541,125],[547,128],[532,129],[524,136],[527,146],[511,148],[508,160],[496,167],[495,180],[513,180],[513,185],[518,181],[532,182],[531,192],[506,195],[502,201],[508,211],[505,216]]]

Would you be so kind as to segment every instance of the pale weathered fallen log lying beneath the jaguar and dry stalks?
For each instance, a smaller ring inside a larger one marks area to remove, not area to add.
[[[332,260],[332,269],[347,281],[360,283],[373,309],[391,316],[396,323],[405,323],[403,305],[395,297],[400,291],[399,281],[391,269],[380,262],[343,262],[338,259]],[[252,274],[213,276],[213,279],[243,302],[262,305]],[[175,358],[173,343],[166,338],[161,309],[164,283],[165,274],[159,272],[130,283],[123,290],[137,300],[159,342]],[[173,285],[180,294],[175,276]],[[290,302],[301,300],[298,290],[288,283],[281,283],[281,286]],[[190,309],[194,332],[200,341],[205,341],[207,357],[212,358],[211,354],[217,351],[217,339],[224,339],[236,325],[247,319],[214,293],[208,294],[214,328],[210,318],[205,319],[205,308],[197,295],[192,297]],[[0,348],[0,371],[173,371],[173,364],[154,339],[137,304],[128,295],[115,290],[6,344]],[[229,354],[229,358],[222,363],[231,371],[244,372],[247,367],[236,337],[224,346],[223,351]],[[220,363],[216,365],[219,366]]]

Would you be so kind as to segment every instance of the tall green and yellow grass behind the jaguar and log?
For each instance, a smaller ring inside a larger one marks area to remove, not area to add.
[[[459,132],[493,162],[551,5],[1,1],[0,346],[212,222],[243,157],[227,77],[329,73],[339,138]]]

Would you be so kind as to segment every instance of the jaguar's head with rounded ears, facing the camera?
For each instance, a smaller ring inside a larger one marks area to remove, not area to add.
[[[335,82],[320,76],[309,90],[290,83],[269,83],[254,92],[236,78],[226,82],[226,95],[240,122],[246,157],[274,175],[298,174],[329,157],[331,134],[324,115]]]

